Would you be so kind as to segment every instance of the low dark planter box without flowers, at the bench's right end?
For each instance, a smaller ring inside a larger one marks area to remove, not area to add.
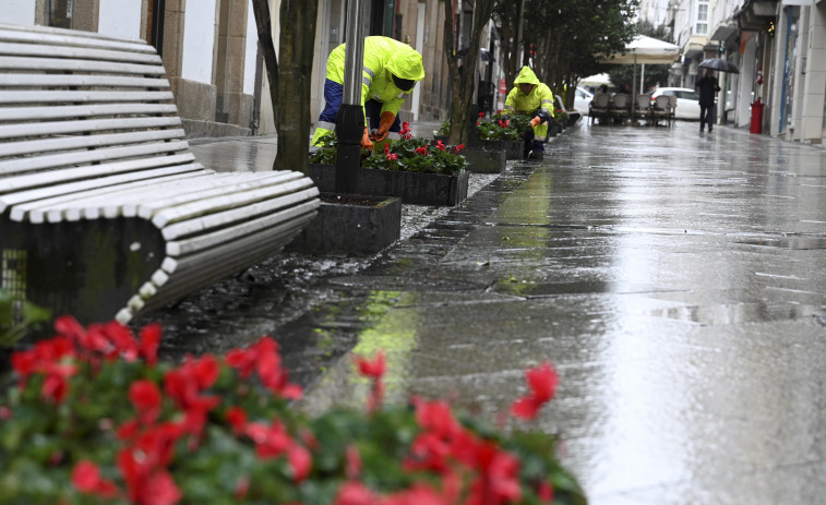
[[[402,237],[402,200],[322,193],[319,215],[287,245],[313,253],[375,254]]]

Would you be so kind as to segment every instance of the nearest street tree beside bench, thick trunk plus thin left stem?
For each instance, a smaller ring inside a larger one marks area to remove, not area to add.
[[[307,147],[311,128],[310,93],[319,0],[282,0],[277,57],[272,37],[270,0],[252,0],[252,10],[278,133],[278,153],[273,169],[309,173]]]

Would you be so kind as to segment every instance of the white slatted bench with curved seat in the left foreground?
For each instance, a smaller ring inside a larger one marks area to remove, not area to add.
[[[316,214],[295,171],[215,172],[143,40],[0,24],[1,287],[86,322],[169,304]]]

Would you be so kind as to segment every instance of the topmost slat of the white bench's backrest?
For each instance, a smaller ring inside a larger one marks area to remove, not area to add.
[[[117,49],[131,52],[155,53],[155,48],[143,39],[115,38],[96,32],[80,32],[50,26],[22,26],[0,23],[0,40]]]

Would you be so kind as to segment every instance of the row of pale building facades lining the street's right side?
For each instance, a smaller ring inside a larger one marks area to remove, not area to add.
[[[721,122],[824,143],[826,0],[671,0],[666,24],[682,48],[670,85],[694,87],[703,59],[726,59],[740,72],[718,76]]]

